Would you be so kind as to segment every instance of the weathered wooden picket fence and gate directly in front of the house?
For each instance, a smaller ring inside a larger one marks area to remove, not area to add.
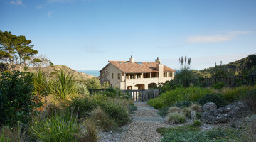
[[[105,92],[105,89],[88,89],[90,94]],[[159,97],[159,89],[144,89],[144,90],[121,90],[123,95],[129,96],[134,102],[146,102],[149,99]]]

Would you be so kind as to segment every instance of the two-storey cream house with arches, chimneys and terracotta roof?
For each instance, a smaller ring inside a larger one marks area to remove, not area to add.
[[[159,83],[174,79],[175,70],[161,64],[159,58],[155,62],[108,61],[100,70],[100,83],[109,82],[112,87],[120,89],[149,89]]]

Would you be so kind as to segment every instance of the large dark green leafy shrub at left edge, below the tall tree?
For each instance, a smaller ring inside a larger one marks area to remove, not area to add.
[[[29,72],[3,72],[0,81],[0,123],[26,123],[31,114],[43,103],[33,93],[33,75]],[[36,103],[38,102],[38,103]]]

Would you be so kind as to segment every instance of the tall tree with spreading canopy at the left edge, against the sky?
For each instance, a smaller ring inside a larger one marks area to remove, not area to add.
[[[17,65],[28,66],[28,61],[38,53],[33,50],[31,40],[26,40],[23,35],[12,35],[8,31],[0,31],[0,60],[9,66],[9,70],[14,70]]]

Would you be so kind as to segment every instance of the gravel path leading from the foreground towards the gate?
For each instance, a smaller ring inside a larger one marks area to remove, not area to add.
[[[122,135],[120,142],[135,141],[159,141],[161,135],[156,132],[159,127],[167,127],[164,119],[157,116],[157,110],[150,107],[147,103],[134,103],[138,110],[134,114],[129,129]]]

